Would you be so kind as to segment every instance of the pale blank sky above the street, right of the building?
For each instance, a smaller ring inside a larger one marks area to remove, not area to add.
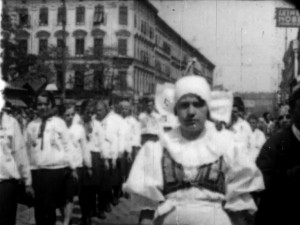
[[[281,80],[285,34],[276,27],[280,0],[152,0],[159,15],[215,65],[214,85],[233,92],[275,92]]]

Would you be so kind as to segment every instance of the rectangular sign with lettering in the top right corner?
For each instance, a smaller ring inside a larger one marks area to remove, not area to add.
[[[300,13],[293,8],[276,8],[277,27],[300,27]]]

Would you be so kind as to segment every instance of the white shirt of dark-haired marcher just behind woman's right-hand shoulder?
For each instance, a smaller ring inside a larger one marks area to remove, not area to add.
[[[238,118],[233,124],[231,131],[233,132],[234,140],[239,149],[247,154],[250,148],[250,137],[252,134],[249,123],[246,120]]]

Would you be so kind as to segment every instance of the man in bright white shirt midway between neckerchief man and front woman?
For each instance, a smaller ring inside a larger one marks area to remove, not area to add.
[[[126,124],[121,116],[110,110],[107,102],[98,101],[96,104],[96,120],[101,123],[100,164],[103,169],[101,177],[102,209],[110,212],[110,203],[118,204],[121,194],[122,171],[121,157],[126,148]],[[113,194],[111,194],[113,193]]]

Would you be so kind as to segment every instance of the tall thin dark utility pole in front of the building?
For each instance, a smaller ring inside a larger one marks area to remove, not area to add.
[[[66,23],[67,23],[67,8],[66,8],[66,0],[62,0],[62,8],[63,8],[63,19],[62,19],[62,93],[61,99],[62,102],[65,101],[66,98]]]

